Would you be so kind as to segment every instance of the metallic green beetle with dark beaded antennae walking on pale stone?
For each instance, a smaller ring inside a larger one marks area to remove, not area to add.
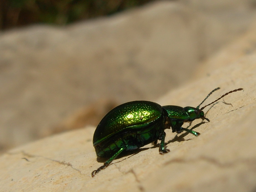
[[[172,129],[173,133],[186,131],[198,136],[200,133],[181,127],[183,123],[199,118],[210,122],[202,111],[205,107],[229,93],[243,90],[239,88],[229,91],[199,109],[200,105],[218,89],[220,88],[212,90],[197,107],[183,108],[175,105],[161,106],[151,101],[131,101],[110,110],[100,121],[93,136],[97,156],[109,159],[93,171],[91,176],[94,177],[108,167],[123,151],[135,150],[152,142],[156,144],[157,140],[161,141],[159,153],[169,152],[170,150],[165,147],[165,129]]]

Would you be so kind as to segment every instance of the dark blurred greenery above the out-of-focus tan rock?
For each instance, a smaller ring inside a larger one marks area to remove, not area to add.
[[[156,0],[1,0],[0,29],[35,23],[66,25]]]

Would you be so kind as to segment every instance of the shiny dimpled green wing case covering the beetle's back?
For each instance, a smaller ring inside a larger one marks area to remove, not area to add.
[[[97,145],[104,140],[112,140],[113,135],[130,132],[148,126],[158,119],[162,114],[162,107],[150,101],[132,101],[124,103],[112,109],[103,117],[97,126],[93,145]]]

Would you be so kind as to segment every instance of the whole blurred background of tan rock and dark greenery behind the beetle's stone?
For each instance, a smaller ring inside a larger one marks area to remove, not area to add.
[[[210,75],[255,19],[256,0],[1,0],[0,151]]]

